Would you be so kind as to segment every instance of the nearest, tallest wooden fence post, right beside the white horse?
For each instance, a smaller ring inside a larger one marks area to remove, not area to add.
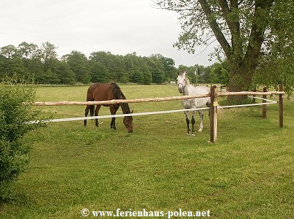
[[[210,87],[210,142],[216,142],[218,135],[218,93],[216,86]]]

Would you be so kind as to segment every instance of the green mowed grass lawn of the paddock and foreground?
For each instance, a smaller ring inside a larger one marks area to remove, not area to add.
[[[128,99],[180,95],[172,85],[121,89]],[[87,86],[44,87],[37,88],[37,100],[85,101],[86,93]],[[0,205],[0,218],[84,218],[82,209],[293,218],[294,102],[284,100],[284,128],[278,125],[278,105],[267,107],[267,119],[261,106],[219,109],[216,144],[208,143],[207,112],[196,136],[186,135],[184,113],[134,117],[132,134],[122,118],[116,118],[116,131],[110,119],[101,119],[99,128],[91,120],[87,127],[83,121],[51,123],[26,136],[33,142],[31,162],[17,181],[15,200]],[[130,108],[140,113],[182,106],[170,101]],[[85,106],[42,109],[55,118],[85,113]],[[109,114],[101,108],[101,115]],[[196,130],[198,125],[197,113]]]

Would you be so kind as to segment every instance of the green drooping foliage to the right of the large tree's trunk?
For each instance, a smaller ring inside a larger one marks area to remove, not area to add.
[[[284,85],[287,93],[294,89],[294,1],[276,1],[259,68],[254,75],[255,86]]]

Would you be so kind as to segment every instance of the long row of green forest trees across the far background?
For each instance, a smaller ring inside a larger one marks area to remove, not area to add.
[[[0,48],[0,79],[6,76],[34,79],[37,84],[89,84],[117,82],[162,84],[175,81],[179,70],[186,70],[191,82],[228,82],[226,61],[212,66],[183,66],[160,54],[141,57],[137,53],[113,55],[110,52],[85,54],[73,50],[58,59],[57,47],[48,41],[42,46],[28,44]]]

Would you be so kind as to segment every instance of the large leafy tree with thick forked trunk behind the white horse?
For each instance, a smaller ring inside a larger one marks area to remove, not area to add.
[[[178,48],[195,53],[197,46],[209,46],[214,39],[218,41],[230,66],[229,91],[250,88],[262,55],[274,47],[281,32],[282,35],[288,32],[284,44],[293,45],[293,0],[164,0],[157,3],[180,14],[182,32],[175,43]],[[292,19],[283,23],[281,32],[276,31],[279,19]],[[293,55],[293,49],[291,53]]]

